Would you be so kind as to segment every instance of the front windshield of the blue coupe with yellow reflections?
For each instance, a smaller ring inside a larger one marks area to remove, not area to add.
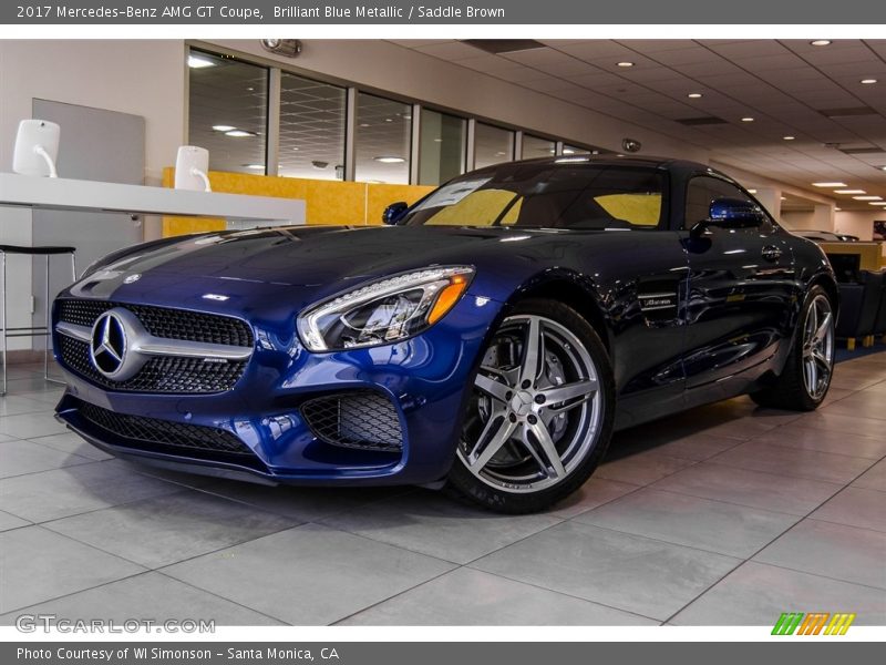
[[[664,178],[652,168],[501,164],[456,178],[409,211],[403,224],[536,228],[655,228]]]

